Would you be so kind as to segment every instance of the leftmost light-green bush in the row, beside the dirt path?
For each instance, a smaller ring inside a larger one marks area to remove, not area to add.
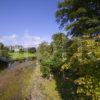
[[[39,45],[37,52],[42,75],[43,77],[49,78],[51,72],[52,47],[47,42],[43,42]]]

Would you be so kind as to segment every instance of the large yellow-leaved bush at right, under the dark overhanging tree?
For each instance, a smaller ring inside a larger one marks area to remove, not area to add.
[[[80,38],[67,43],[67,60],[62,69],[70,70],[71,78],[77,85],[76,93],[79,98],[95,99],[100,95],[98,93],[100,90],[100,56],[96,55],[98,50],[96,44],[95,40],[81,40]],[[68,73],[65,74],[68,75]]]

